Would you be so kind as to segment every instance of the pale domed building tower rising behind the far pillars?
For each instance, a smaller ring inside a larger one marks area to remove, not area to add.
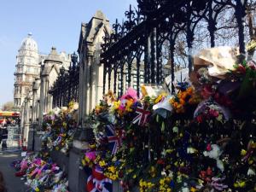
[[[19,53],[16,56],[15,71],[15,93],[14,93],[14,110],[20,112],[21,104],[32,90],[32,82],[35,78],[39,78],[40,65],[38,54],[38,44],[29,33],[23,39]]]

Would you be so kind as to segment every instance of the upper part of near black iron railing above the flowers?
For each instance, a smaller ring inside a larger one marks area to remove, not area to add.
[[[113,24],[113,33],[106,36],[102,44],[102,63],[104,64],[103,92],[111,86],[113,73],[113,90],[121,86],[123,79],[117,79],[116,72],[121,74],[124,64],[128,65],[128,84],[131,85],[131,65],[136,62],[137,68],[144,65],[144,83],[161,84],[163,81],[162,46],[169,41],[172,84],[174,81],[174,52],[177,35],[186,35],[189,72],[193,69],[192,49],[195,39],[195,27],[201,20],[207,22],[211,47],[215,46],[218,15],[227,9],[234,9],[240,52],[245,53],[244,22],[247,0],[137,0],[137,9],[125,12],[127,20]],[[139,77],[140,71],[137,70]],[[108,75],[108,84],[107,84]],[[107,87],[108,86],[108,87]],[[140,81],[137,80],[137,90]]]

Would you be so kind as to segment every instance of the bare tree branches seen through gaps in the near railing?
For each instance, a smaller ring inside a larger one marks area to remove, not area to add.
[[[249,0],[247,2],[247,20],[245,25],[245,41],[246,44],[250,42],[250,39],[254,40],[256,46],[256,27],[253,28],[253,15],[252,10],[255,11],[256,0]],[[256,24],[255,24],[256,25]],[[215,46],[238,46],[238,27],[235,16],[235,9],[231,6],[226,6],[217,15],[215,35]],[[202,19],[195,26],[195,36],[193,41],[193,54],[198,52],[200,49],[209,48],[210,34],[208,31],[208,22],[206,19]],[[163,61],[170,63],[170,49],[169,42],[166,41],[163,44]],[[254,52],[254,51],[253,51]],[[251,51],[251,55],[253,55]],[[250,52],[249,52],[250,54]],[[186,32],[182,31],[177,35],[175,51],[174,65],[175,70],[187,67],[188,63],[188,47],[186,43]]]

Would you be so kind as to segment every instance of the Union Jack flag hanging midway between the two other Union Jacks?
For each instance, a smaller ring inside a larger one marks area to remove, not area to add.
[[[121,147],[122,139],[125,137],[125,131],[115,131],[113,125],[106,126],[106,133],[108,137],[108,147],[112,151],[111,154],[116,154],[118,149]]]

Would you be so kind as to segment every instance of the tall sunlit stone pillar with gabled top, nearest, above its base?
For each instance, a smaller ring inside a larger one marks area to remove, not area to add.
[[[89,23],[82,23],[79,38],[79,124],[102,99],[103,66],[100,62],[103,37],[111,32],[109,20],[97,11]]]

